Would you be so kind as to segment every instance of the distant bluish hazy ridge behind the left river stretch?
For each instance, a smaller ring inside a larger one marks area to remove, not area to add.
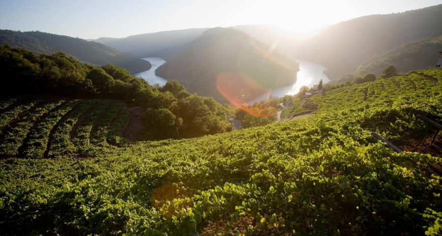
[[[93,41],[135,55],[138,58],[159,57],[167,60],[207,29],[170,30],[132,35],[126,38],[98,38]]]

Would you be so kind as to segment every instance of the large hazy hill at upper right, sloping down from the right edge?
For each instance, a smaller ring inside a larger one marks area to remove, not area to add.
[[[367,59],[404,43],[442,34],[442,4],[388,15],[371,15],[338,23],[300,44],[296,58],[329,68],[333,80],[354,72]],[[440,51],[440,50],[439,50]]]

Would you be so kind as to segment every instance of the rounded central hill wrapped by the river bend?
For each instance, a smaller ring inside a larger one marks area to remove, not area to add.
[[[219,102],[242,104],[294,83],[299,64],[235,29],[214,28],[167,60],[156,74]]]

